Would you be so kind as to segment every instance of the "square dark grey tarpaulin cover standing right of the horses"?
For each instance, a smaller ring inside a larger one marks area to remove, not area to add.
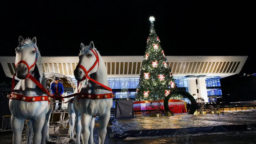
[[[116,100],[116,118],[133,117],[132,100]]]

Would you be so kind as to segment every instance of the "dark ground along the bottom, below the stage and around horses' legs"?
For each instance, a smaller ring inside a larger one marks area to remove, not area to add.
[[[98,138],[99,127],[94,128],[94,141],[99,143]],[[138,137],[126,139],[113,139],[110,138],[109,134],[111,132],[111,127],[107,128],[108,133],[104,144],[174,144],[175,140],[178,143],[189,143],[194,144],[256,144],[256,132],[226,132],[226,133],[201,133],[196,135],[186,135],[186,136],[159,136],[159,137]],[[24,136],[23,132],[23,136]],[[59,138],[58,135],[51,135],[51,139],[56,141],[56,144],[67,144],[68,129],[60,130]],[[12,144],[12,132],[1,132],[0,133],[0,144]],[[185,140],[182,142],[182,140]],[[191,141],[192,140],[192,141]],[[22,144],[26,143],[26,139],[22,140]]]

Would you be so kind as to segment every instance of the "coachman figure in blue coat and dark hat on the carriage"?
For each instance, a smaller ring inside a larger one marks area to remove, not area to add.
[[[51,90],[52,90],[52,96],[58,96],[60,99],[53,99],[53,110],[56,108],[56,100],[59,102],[64,101],[62,97],[62,94],[64,92],[63,85],[59,83],[60,79],[59,77],[55,77],[54,83],[51,84]],[[60,110],[61,105],[58,106],[58,110]]]

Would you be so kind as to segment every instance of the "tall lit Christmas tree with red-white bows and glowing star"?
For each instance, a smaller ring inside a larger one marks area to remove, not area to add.
[[[175,90],[172,69],[167,64],[160,39],[154,28],[154,17],[149,18],[151,26],[147,39],[147,47],[142,61],[139,85],[135,100],[164,100],[168,94]]]

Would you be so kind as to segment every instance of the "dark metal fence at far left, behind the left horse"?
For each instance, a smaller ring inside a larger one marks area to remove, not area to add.
[[[11,115],[11,111],[9,109],[9,99],[7,95],[11,93],[11,87],[0,87],[0,127],[2,127],[3,116]]]

